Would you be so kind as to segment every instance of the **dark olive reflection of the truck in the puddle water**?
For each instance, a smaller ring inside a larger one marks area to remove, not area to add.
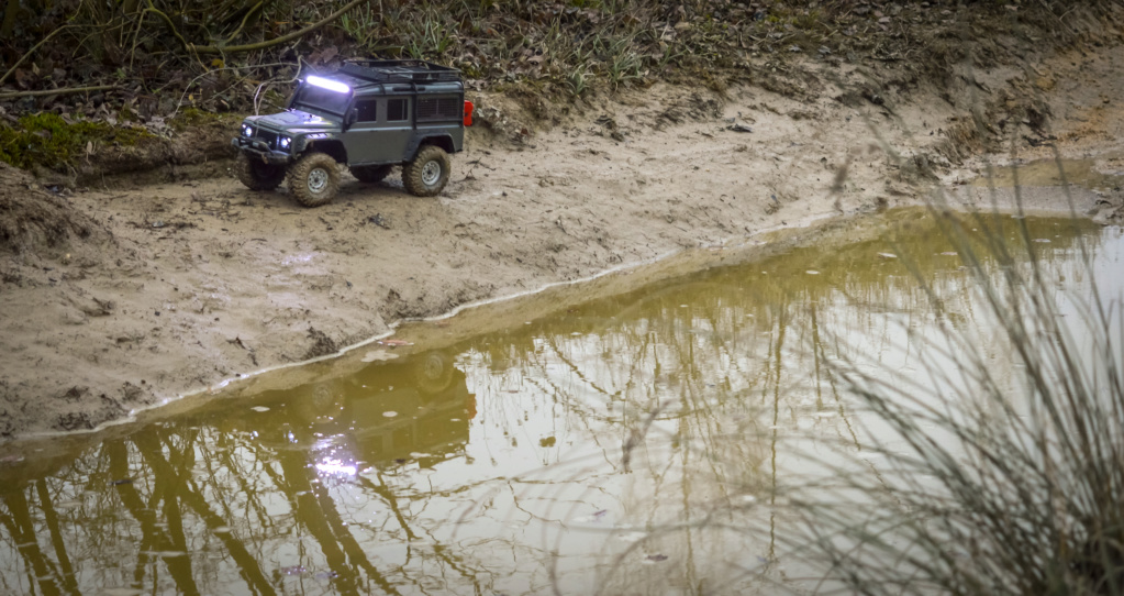
[[[289,427],[290,446],[344,469],[433,466],[461,451],[475,416],[464,373],[439,351],[375,362],[348,377],[273,392],[269,401],[278,399],[285,401],[278,422]]]

